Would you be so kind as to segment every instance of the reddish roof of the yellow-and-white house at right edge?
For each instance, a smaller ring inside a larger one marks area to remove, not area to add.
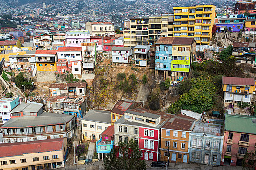
[[[222,77],[222,83],[228,85],[255,85],[253,78]]]

